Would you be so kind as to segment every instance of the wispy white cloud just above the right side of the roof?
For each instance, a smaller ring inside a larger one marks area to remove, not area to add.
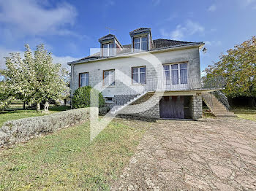
[[[160,32],[162,36],[165,38],[181,40],[186,38],[187,36],[192,36],[194,34],[203,34],[205,28],[201,26],[199,23],[193,22],[192,20],[187,20],[187,22],[182,25],[176,26],[174,31],[166,31],[165,29],[161,29]]]

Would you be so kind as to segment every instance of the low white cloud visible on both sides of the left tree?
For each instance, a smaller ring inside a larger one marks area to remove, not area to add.
[[[6,49],[4,47],[0,47],[0,69],[5,68],[5,58],[4,57],[10,56],[10,52],[19,52],[21,57],[23,58],[23,51],[10,50],[10,49]],[[70,67],[67,65],[68,62],[76,61],[76,60],[80,59],[80,58],[71,57],[69,55],[67,55],[67,56],[52,55],[52,57],[53,57],[53,63],[61,63],[61,65],[66,69],[70,69]]]

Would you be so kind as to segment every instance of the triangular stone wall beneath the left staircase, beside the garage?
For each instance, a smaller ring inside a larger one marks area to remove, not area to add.
[[[159,119],[159,96],[145,95],[135,103],[125,107],[119,113]]]

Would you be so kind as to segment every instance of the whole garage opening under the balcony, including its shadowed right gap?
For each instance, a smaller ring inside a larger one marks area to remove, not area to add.
[[[160,100],[160,118],[191,119],[192,97],[182,95],[163,96]]]

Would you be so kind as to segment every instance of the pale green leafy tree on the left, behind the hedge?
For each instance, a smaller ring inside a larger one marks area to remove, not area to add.
[[[12,95],[23,101],[37,103],[45,101],[48,108],[50,98],[57,99],[67,92],[67,70],[61,64],[53,64],[51,52],[45,50],[44,44],[39,44],[32,55],[29,44],[25,45],[24,59],[19,53],[10,53],[6,58],[7,70],[4,76]]]

